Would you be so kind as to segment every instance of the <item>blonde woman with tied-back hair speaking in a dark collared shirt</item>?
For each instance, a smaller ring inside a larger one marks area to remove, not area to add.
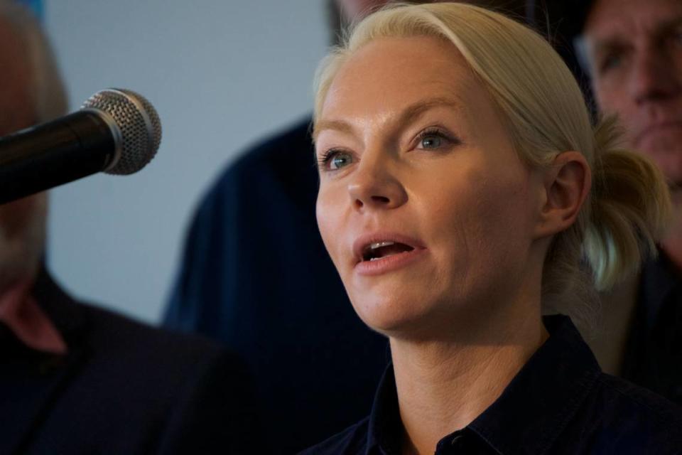
[[[580,259],[601,289],[654,252],[669,194],[540,36],[379,11],[321,66],[314,123],[320,232],[393,363],[370,417],[305,453],[678,453],[678,410],[541,317],[584,314]]]

